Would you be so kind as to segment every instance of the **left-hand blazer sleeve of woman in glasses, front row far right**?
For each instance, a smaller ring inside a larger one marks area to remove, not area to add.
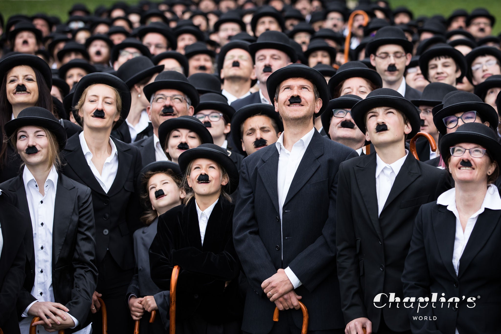
[[[433,318],[433,309],[431,302],[418,302],[418,297],[430,297],[430,272],[428,260],[426,257],[426,248],[424,245],[423,234],[423,211],[426,211],[426,205],[419,208],[416,217],[410,248],[405,258],[404,271],[402,273],[402,284],[404,296],[416,297],[415,307],[409,308],[410,327],[413,334],[440,334],[433,320],[420,321],[413,320],[413,316],[428,316]],[[418,308],[417,306],[420,305]],[[423,306],[423,307],[421,307]],[[419,310],[419,313],[418,313]]]

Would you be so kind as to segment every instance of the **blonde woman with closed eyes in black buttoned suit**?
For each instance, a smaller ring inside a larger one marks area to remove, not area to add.
[[[64,174],[91,188],[96,223],[96,259],[99,271],[90,309],[93,331],[100,328],[95,314],[102,296],[108,310],[108,332],[132,331],[132,318],[124,302],[134,275],[132,233],[140,227],[135,182],[141,170],[139,150],[110,137],[127,118],[130,91],[107,73],[83,77],[73,95],[73,116],[84,131],[68,139],[62,152]]]

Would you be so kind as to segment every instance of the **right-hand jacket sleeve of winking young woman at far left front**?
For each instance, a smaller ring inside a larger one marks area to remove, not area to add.
[[[77,242],[72,265],[75,270],[71,301],[66,304],[69,312],[83,324],[92,304],[92,294],[97,285],[96,230],[91,190],[87,188],[79,207]]]

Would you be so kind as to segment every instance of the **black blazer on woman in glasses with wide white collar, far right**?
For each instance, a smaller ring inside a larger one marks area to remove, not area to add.
[[[499,333],[501,314],[501,210],[485,209],[473,227],[459,261],[458,275],[452,265],[456,217],[436,202],[423,205],[418,212],[410,249],[405,259],[402,282],[405,296],[437,293],[435,308],[408,308],[413,333],[494,334]],[[459,303],[445,300],[459,297]],[[465,299],[463,300],[463,296]],[[480,296],[480,298],[478,298]],[[474,297],[473,302],[467,299]],[[416,298],[417,299],[417,298]],[[426,306],[426,303],[421,303]],[[413,320],[412,316],[436,316],[436,320]]]

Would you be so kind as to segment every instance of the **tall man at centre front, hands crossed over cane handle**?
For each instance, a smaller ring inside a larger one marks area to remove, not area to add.
[[[310,333],[342,333],[334,244],[337,173],[357,153],[313,126],[329,100],[318,71],[290,65],[274,72],[267,88],[284,132],[242,161],[233,219],[235,249],[249,282],[242,330],[298,332],[301,299]],[[272,319],[275,306],[288,310],[278,322]]]

